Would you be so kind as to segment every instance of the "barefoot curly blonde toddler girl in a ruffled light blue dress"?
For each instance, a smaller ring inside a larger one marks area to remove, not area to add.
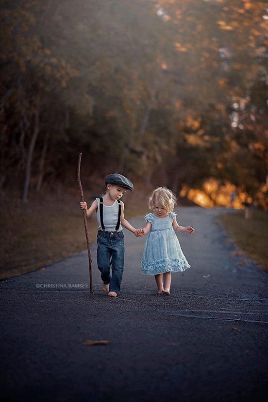
[[[184,271],[190,268],[182,252],[176,232],[194,233],[191,226],[179,226],[173,211],[176,197],[166,187],[156,188],[149,199],[149,209],[145,227],[139,232],[140,236],[150,232],[146,240],[143,260],[141,262],[142,274],[154,275],[158,294],[169,294],[171,272]]]

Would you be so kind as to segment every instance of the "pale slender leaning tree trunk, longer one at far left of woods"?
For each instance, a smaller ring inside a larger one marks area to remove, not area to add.
[[[35,110],[35,114],[34,114],[33,136],[31,138],[28,155],[27,155],[24,187],[23,187],[23,193],[22,193],[22,198],[21,198],[21,201],[23,203],[28,201],[30,179],[31,179],[31,168],[32,168],[32,160],[33,160],[33,151],[34,151],[36,139],[39,134],[39,122],[40,122],[40,94],[37,95],[36,110]]]

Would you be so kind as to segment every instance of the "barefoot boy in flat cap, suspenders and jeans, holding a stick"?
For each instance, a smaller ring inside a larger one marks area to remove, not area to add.
[[[97,212],[97,263],[101,271],[103,282],[102,291],[108,296],[116,297],[121,290],[122,274],[124,270],[124,234],[122,226],[135,236],[139,236],[141,229],[135,229],[124,217],[124,203],[120,198],[128,190],[133,191],[133,184],[126,177],[113,173],[105,178],[106,193],[96,198],[87,209],[86,202],[80,202],[85,209],[87,218]],[[112,276],[110,276],[112,265]]]

